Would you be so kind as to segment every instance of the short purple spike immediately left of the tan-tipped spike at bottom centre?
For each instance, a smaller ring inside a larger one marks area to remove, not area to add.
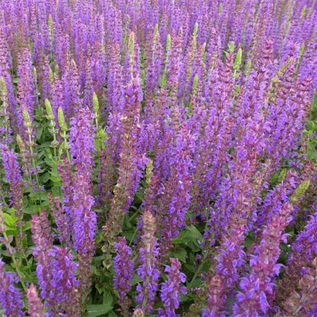
[[[115,276],[113,278],[114,287],[119,294],[119,305],[123,314],[128,315],[131,301],[126,296],[131,290],[131,281],[133,279],[134,263],[129,260],[132,250],[126,244],[126,238],[119,237],[119,242],[114,244],[117,249],[117,255],[113,259]]]

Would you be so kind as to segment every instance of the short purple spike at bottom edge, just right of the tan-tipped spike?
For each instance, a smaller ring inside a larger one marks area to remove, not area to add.
[[[175,309],[179,307],[180,294],[186,293],[186,287],[181,283],[186,281],[186,276],[181,273],[181,263],[176,258],[170,258],[171,266],[166,265],[165,272],[168,275],[167,281],[161,286],[161,300],[164,309],[158,309],[158,316],[180,316],[175,313]]]

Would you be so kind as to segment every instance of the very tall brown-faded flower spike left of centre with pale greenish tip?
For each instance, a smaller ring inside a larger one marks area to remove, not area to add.
[[[130,81],[125,91],[125,105],[121,114],[122,147],[120,153],[119,178],[114,188],[114,198],[110,209],[109,221],[106,224],[110,234],[116,235],[121,231],[122,219],[133,201],[137,191],[142,169],[146,163],[145,156],[139,154],[138,136],[140,130],[139,118],[142,100],[139,68],[135,65],[134,33],[129,37]]]

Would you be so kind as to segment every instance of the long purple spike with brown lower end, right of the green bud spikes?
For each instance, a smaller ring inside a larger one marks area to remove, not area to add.
[[[85,302],[91,283],[91,263],[93,260],[97,215],[92,209],[91,174],[94,167],[94,113],[89,108],[78,110],[77,117],[71,119],[70,155],[75,165],[75,178],[69,212],[73,219],[72,240],[77,251],[79,268],[79,297],[77,309]]]

